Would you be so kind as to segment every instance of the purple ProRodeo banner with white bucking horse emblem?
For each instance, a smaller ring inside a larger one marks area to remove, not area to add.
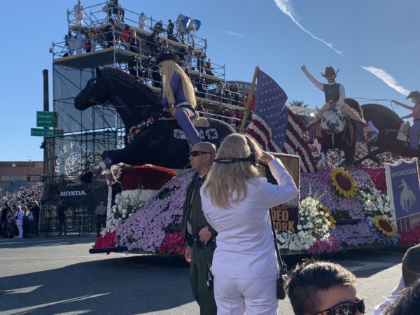
[[[398,232],[420,225],[420,184],[417,159],[385,163],[388,197],[395,209]]]

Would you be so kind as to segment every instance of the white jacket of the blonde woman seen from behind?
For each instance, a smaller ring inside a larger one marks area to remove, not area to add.
[[[221,209],[200,190],[204,216],[218,232],[212,271],[215,276],[255,279],[278,272],[274,238],[268,209],[290,201],[297,195],[292,177],[280,160],[269,162],[279,185],[263,177],[246,183],[246,197],[230,209]]]

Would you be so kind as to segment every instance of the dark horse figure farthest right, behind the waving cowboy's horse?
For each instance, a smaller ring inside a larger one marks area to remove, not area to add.
[[[365,104],[362,105],[363,116],[367,122],[371,121],[374,127],[379,130],[379,135],[376,141],[367,144],[369,152],[363,158],[356,162],[360,163],[369,158],[374,162],[379,163],[376,155],[384,152],[391,152],[402,157],[412,158],[416,155],[409,150],[407,141],[397,139],[398,132],[404,121],[391,109],[380,104]],[[372,151],[372,148],[375,148]]]

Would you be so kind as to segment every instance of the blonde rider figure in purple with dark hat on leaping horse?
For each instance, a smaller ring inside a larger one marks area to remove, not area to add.
[[[174,54],[163,54],[156,59],[156,64],[163,77],[162,104],[169,107],[172,115],[186,134],[188,141],[190,141],[190,145],[194,146],[202,141],[200,134],[191,122],[191,118],[195,116],[197,101],[190,78],[179,66],[179,62],[179,57]]]

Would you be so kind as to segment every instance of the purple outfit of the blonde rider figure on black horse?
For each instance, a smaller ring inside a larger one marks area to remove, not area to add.
[[[182,85],[182,78],[178,73],[174,73],[171,77],[171,87],[172,92],[174,92],[174,99],[177,109],[181,109],[182,107],[186,108],[187,111],[176,111],[175,118],[178,122],[179,126],[186,134],[188,141],[190,144],[194,146],[198,142],[202,141],[200,134],[198,134],[197,130],[195,129],[193,123],[191,122],[191,117],[194,116],[195,111],[193,106],[188,104],[186,95],[183,92],[183,85]],[[168,105],[168,99],[165,97],[162,99],[162,105]],[[189,115],[188,115],[188,113]]]

